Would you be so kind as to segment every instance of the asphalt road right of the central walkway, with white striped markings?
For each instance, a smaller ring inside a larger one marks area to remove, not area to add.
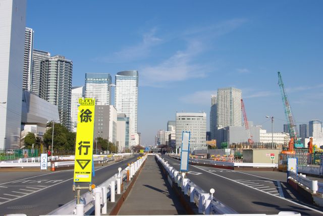
[[[180,161],[163,155],[176,170]],[[323,208],[308,203],[286,183],[286,173],[233,171],[189,165],[187,177],[238,213],[278,214],[297,211],[301,215],[322,215]]]

